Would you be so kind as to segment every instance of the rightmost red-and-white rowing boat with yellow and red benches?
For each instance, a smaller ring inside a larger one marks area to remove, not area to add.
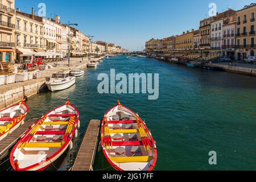
[[[138,114],[119,101],[102,121],[101,147],[118,171],[152,171],[155,167],[157,151],[150,130]]]

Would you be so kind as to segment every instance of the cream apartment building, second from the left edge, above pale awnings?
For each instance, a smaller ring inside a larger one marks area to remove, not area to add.
[[[44,52],[43,18],[32,14],[16,11],[15,59],[22,59],[27,52]]]

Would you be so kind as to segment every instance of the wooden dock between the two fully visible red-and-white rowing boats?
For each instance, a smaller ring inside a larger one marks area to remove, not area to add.
[[[93,171],[101,121],[91,120],[82,140],[72,171]]]

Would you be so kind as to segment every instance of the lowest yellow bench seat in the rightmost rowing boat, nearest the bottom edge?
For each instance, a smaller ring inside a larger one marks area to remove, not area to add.
[[[115,163],[148,163],[154,158],[152,156],[135,156],[135,157],[114,157],[109,159]]]

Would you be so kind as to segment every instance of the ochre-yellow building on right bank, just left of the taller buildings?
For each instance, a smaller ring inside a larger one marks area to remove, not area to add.
[[[192,31],[183,32],[183,34],[176,36],[175,49],[193,49],[193,32],[194,30],[192,29]]]

